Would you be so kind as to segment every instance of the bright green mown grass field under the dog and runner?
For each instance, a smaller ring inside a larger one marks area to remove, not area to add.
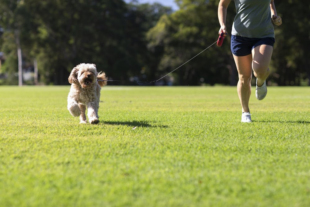
[[[310,206],[310,87],[0,87],[0,206]],[[136,127],[136,128],[135,128]]]

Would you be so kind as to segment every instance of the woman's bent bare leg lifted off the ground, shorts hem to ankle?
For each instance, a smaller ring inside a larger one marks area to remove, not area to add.
[[[262,86],[270,73],[268,67],[271,61],[272,51],[273,47],[270,45],[259,45],[252,50],[252,67],[254,75],[257,78],[257,86]]]

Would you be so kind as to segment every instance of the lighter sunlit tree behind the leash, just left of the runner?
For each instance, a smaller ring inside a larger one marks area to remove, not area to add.
[[[218,1],[179,0],[177,3],[180,9],[171,15],[162,16],[148,32],[149,48],[162,51],[159,64],[162,73],[182,65],[218,38]],[[229,10],[233,10],[233,7],[230,6]],[[233,11],[228,12],[227,22],[232,22],[232,14]],[[225,44],[228,45],[229,37],[226,39]],[[232,62],[226,47],[210,47],[178,69],[175,74],[176,84],[235,84]]]

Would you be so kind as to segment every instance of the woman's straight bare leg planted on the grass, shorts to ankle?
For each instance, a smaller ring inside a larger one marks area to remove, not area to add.
[[[239,81],[237,84],[237,92],[240,99],[242,112],[250,112],[249,100],[251,95],[252,55],[233,55],[233,58],[235,59],[238,70]]]

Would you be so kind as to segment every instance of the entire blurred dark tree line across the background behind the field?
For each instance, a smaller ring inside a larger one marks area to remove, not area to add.
[[[18,83],[18,47],[24,73],[32,72],[34,62],[38,62],[41,84],[68,84],[69,72],[81,62],[95,63],[110,79],[156,80],[218,37],[219,0],[176,2],[178,11],[158,3],[123,0],[2,0],[0,52],[4,55],[0,58],[0,84]],[[269,81],[277,85],[310,84],[309,3],[275,4],[283,24],[275,26]],[[228,30],[234,15],[232,2]],[[222,47],[213,45],[162,83],[236,84],[229,37]],[[24,84],[33,84],[33,80],[24,80]]]

